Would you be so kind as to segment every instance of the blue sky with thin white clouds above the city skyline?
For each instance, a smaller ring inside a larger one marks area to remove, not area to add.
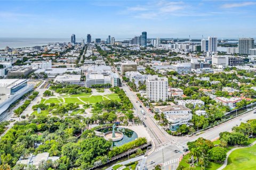
[[[256,1],[2,1],[0,37],[256,37]]]

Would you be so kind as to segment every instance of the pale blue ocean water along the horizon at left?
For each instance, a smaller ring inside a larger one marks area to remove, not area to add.
[[[0,49],[43,46],[47,43],[70,42],[70,38],[0,38]]]

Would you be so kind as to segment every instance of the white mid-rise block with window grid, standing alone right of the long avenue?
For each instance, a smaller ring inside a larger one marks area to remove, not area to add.
[[[168,79],[158,77],[158,75],[148,75],[146,91],[149,100],[166,101],[168,99]]]

